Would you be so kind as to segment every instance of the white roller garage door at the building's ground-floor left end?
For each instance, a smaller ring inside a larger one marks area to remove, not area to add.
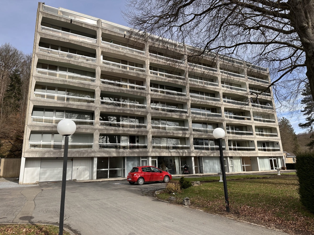
[[[41,159],[39,182],[62,181],[63,158],[61,159]],[[68,160],[67,178],[72,180],[72,161]]]

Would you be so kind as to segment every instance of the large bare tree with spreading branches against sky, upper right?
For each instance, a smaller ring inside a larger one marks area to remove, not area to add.
[[[314,98],[314,1],[128,0],[124,16],[141,33],[190,44],[199,55],[269,67],[281,100],[296,100],[307,80]]]

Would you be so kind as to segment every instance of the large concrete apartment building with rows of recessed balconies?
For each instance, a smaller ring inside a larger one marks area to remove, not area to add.
[[[267,68],[129,30],[38,4],[20,184],[61,180],[64,118],[77,127],[67,180],[123,178],[138,165],[217,173],[218,127],[226,172],[282,166]]]

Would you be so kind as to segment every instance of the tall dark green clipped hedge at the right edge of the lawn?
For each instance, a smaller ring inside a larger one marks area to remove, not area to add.
[[[314,213],[314,154],[302,153],[296,156],[295,169],[299,178],[300,201]]]

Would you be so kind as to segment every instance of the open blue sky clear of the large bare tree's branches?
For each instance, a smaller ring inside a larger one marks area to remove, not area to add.
[[[62,7],[128,26],[121,13],[125,9],[125,0],[50,0],[44,2],[51,7]],[[24,53],[32,53],[38,0],[0,0],[0,6],[2,8],[0,45],[10,43]],[[287,114],[284,117],[290,120],[295,133],[304,131],[298,127],[298,123],[304,120],[302,115],[291,117]]]

